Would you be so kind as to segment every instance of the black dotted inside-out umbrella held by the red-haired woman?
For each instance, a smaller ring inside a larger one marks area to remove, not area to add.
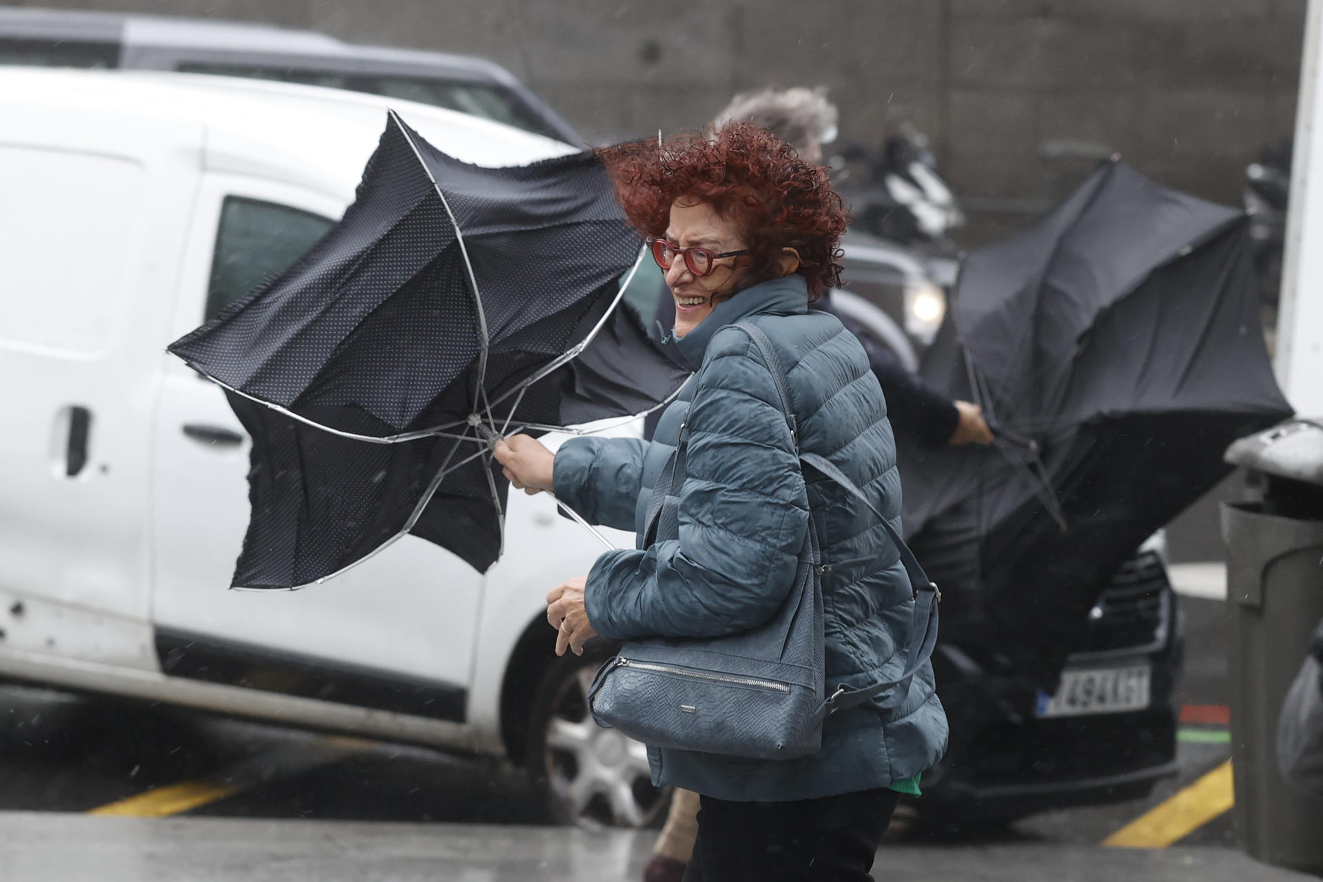
[[[493,438],[639,414],[685,378],[620,301],[639,255],[591,153],[482,168],[390,112],[340,223],[169,346],[253,436],[234,584],[316,582],[406,533],[486,571]]]

